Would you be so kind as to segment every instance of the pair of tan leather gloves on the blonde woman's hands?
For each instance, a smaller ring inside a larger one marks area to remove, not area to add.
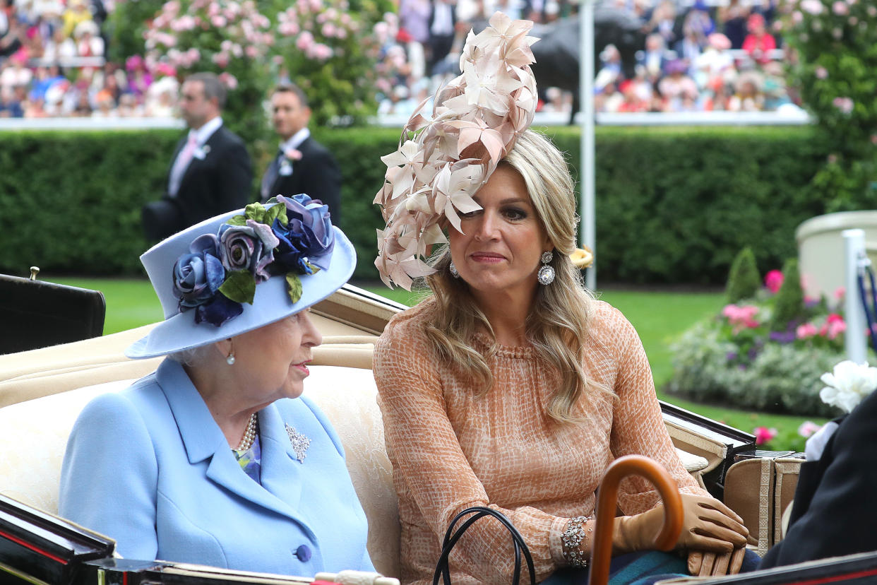
[[[732,553],[746,545],[749,531],[743,518],[724,503],[709,496],[682,496],[682,531],[675,548],[692,548],[713,553]],[[659,506],[637,514],[615,518],[612,553],[624,554],[651,549],[664,524],[664,508]]]

